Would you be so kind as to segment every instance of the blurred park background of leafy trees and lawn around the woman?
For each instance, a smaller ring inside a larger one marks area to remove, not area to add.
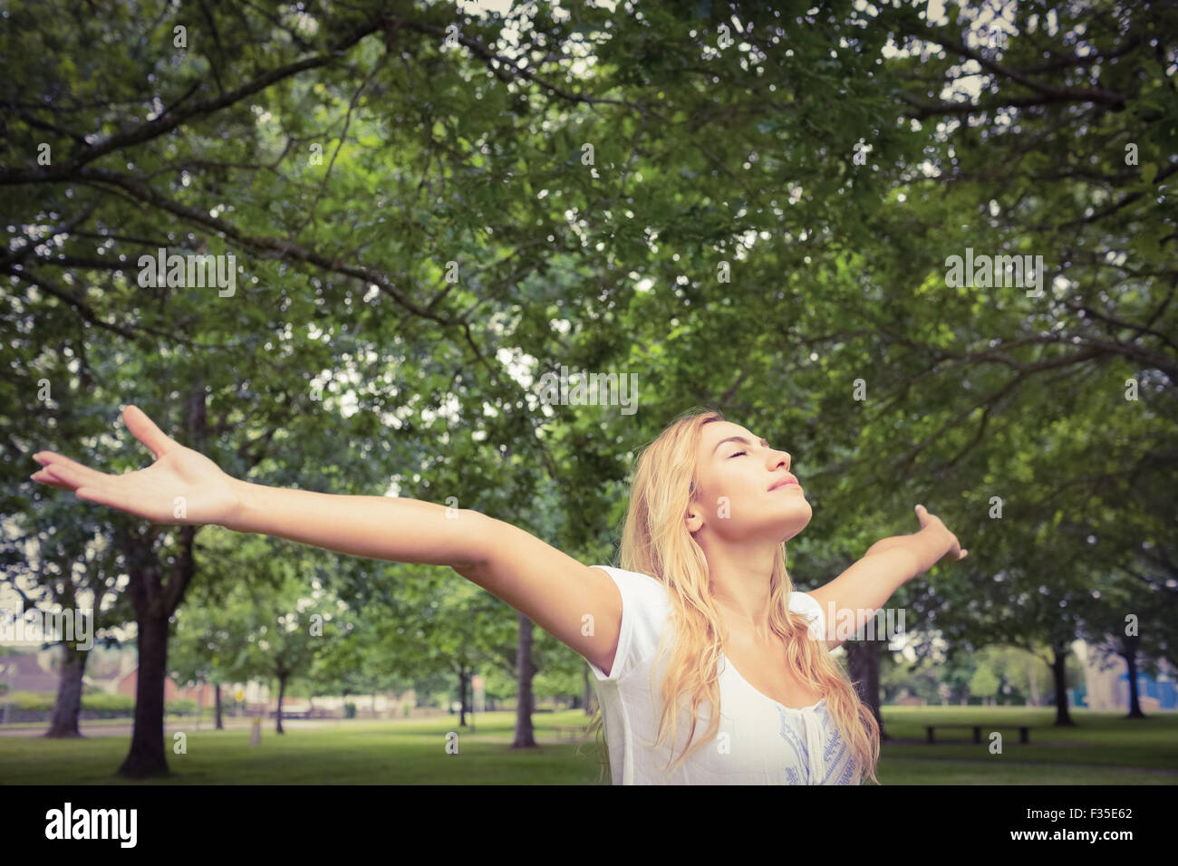
[[[835,650],[881,781],[1173,784],[1178,11],[772,6],[4,4],[0,779],[598,781],[585,662],[449,569],[28,478],[134,404],[587,564],[720,409],[799,589],[918,502],[969,550]]]

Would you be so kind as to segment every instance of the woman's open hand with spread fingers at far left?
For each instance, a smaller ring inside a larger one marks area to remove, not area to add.
[[[240,509],[238,482],[211,460],[165,435],[138,406],[123,410],[135,438],[155,455],[146,469],[108,475],[55,451],[38,451],[33,481],[72,490],[79,500],[110,505],[153,523],[225,524]]]

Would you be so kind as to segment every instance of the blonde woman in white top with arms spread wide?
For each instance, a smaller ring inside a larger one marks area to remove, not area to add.
[[[641,452],[620,568],[584,566],[477,511],[237,481],[137,406],[123,417],[151,467],[107,475],[39,451],[32,477],[155,523],[452,568],[589,662],[614,784],[878,782],[879,726],[830,656],[847,635],[828,612],[859,612],[858,629],[905,581],[967,553],[918,505],[920,531],[795,591],[785,542],[812,511],[790,455],[710,410],[686,412]]]

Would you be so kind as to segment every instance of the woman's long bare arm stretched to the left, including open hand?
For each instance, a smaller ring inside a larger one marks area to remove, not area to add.
[[[152,465],[108,475],[53,451],[38,451],[33,457],[42,469],[33,480],[155,523],[214,523],[353,556],[449,566],[610,670],[621,634],[622,597],[604,571],[469,509],[237,481],[165,435],[137,406],[127,406],[123,417],[155,455]]]

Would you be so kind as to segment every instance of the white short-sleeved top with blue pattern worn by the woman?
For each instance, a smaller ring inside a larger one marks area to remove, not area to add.
[[[674,613],[667,588],[650,575],[609,566],[622,594],[622,630],[614,665],[605,673],[589,662],[601,702],[609,765],[615,785],[851,785],[858,784],[855,761],[826,708],[826,699],[792,708],[754,688],[736,667],[720,659],[720,729],[674,773],[667,766],[670,745],[653,746],[662,713],[662,675],[670,657],[655,667],[655,652]],[[822,607],[806,593],[790,593],[789,609],[810,617],[810,634],[825,634]],[[674,640],[674,634],[668,641]],[[587,660],[588,661],[588,660]],[[682,700],[682,696],[681,699]],[[691,742],[699,742],[710,721],[707,701]],[[690,716],[681,710],[674,756],[687,742]]]

